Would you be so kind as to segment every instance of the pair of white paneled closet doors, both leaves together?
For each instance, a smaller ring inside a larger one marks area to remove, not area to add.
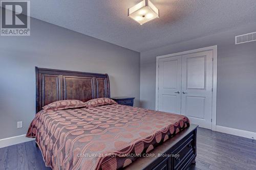
[[[159,59],[158,110],[211,129],[212,63],[212,51]]]

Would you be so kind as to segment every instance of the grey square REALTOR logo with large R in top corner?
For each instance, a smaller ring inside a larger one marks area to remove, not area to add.
[[[30,35],[30,1],[1,1],[1,36]]]

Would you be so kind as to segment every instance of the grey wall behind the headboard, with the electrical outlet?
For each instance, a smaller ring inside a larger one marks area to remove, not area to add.
[[[108,73],[111,96],[134,96],[139,105],[139,53],[32,19],[31,36],[0,37],[0,139],[28,130],[35,115],[35,66]]]

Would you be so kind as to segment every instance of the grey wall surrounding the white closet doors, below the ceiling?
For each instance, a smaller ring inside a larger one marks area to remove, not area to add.
[[[156,56],[218,45],[217,125],[256,132],[256,42],[234,45],[235,35],[255,31],[250,23],[141,53],[140,106],[155,109]]]

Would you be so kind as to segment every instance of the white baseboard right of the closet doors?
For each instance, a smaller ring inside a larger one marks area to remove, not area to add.
[[[231,134],[231,135],[246,137],[246,138],[250,138],[250,139],[256,139],[255,132],[244,131],[244,130],[234,129],[234,128],[228,128],[228,127],[218,126],[218,125],[216,126],[216,131]]]

